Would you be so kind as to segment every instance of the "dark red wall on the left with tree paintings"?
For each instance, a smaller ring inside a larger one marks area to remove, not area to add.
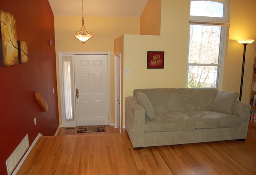
[[[2,175],[7,174],[6,160],[27,133],[31,145],[38,133],[54,135],[59,120],[54,16],[48,0],[1,0],[0,9],[15,16],[17,38],[28,42],[28,63],[0,67]],[[38,89],[48,103],[48,112],[43,112],[35,99]]]

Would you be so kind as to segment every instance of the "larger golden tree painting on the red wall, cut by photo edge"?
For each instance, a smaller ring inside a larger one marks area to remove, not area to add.
[[[15,17],[0,10],[0,60],[2,66],[19,63]]]

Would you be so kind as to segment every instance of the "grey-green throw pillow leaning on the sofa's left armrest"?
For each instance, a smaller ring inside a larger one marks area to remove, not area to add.
[[[148,100],[148,97],[142,93],[141,91],[137,92],[137,100],[145,109],[146,115],[150,118],[154,118],[154,109],[150,101]]]

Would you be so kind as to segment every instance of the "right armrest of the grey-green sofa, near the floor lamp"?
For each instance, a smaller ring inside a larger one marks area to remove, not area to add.
[[[244,130],[244,138],[246,138],[247,135],[250,120],[250,109],[251,106],[242,101],[236,100],[236,102],[234,103],[233,115],[236,115],[241,118],[240,127],[242,127],[242,129]]]

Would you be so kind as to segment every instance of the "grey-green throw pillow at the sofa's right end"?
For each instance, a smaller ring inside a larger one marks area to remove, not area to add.
[[[234,102],[238,92],[218,91],[216,98],[211,104],[210,110],[232,114]]]

